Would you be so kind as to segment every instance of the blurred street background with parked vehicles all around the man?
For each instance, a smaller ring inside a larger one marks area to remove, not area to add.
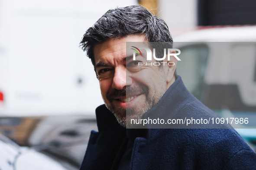
[[[256,1],[0,0],[1,170],[79,168],[104,103],[79,42],[108,9],[136,4],[169,25],[191,93],[249,117],[237,131],[255,149]]]

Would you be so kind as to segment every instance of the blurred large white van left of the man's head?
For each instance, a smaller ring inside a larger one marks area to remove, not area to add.
[[[94,115],[104,102],[79,42],[108,9],[134,4],[1,0],[0,116]]]

